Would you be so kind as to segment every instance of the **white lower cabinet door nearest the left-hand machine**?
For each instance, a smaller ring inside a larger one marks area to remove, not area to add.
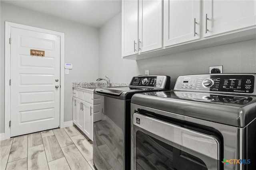
[[[84,133],[92,140],[92,124],[93,124],[93,105],[83,102],[84,111]]]

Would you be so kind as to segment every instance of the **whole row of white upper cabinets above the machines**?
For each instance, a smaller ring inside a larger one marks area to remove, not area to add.
[[[256,38],[256,0],[122,0],[122,57],[147,59]]]

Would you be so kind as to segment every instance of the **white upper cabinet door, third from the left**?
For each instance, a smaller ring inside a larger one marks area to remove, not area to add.
[[[200,0],[164,0],[164,47],[200,39]]]

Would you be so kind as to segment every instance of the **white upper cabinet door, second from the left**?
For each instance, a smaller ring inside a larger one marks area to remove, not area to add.
[[[139,53],[162,48],[162,0],[139,0]]]

